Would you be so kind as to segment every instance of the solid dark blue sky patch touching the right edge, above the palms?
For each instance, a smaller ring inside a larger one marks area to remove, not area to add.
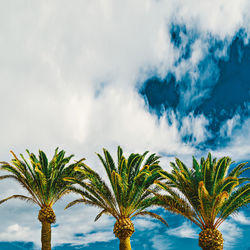
[[[214,133],[218,133],[223,122],[236,114],[240,115],[241,122],[249,117],[250,45],[244,46],[241,39],[235,39],[230,47],[229,60],[219,61],[218,67],[220,77],[210,98],[195,109],[195,113],[203,113],[212,120],[210,130]],[[228,141],[229,138],[224,139]]]

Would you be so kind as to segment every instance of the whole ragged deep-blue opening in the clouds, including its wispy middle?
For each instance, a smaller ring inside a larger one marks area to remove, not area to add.
[[[196,35],[184,26],[172,26],[170,33],[176,48],[181,48],[184,43],[183,51],[190,50],[196,39]],[[191,34],[189,41],[183,41],[188,34]],[[221,58],[218,54],[226,42],[211,39],[209,54],[197,65],[199,77],[195,82],[189,72],[180,82],[169,73],[163,80],[157,76],[146,80],[139,90],[151,112],[160,117],[164,110],[173,109],[178,114],[180,126],[181,118],[190,112],[204,114],[210,121],[207,129],[212,137],[203,145],[195,145],[200,149],[225,146],[230,141],[220,135],[225,121],[238,114],[243,123],[250,115],[250,44],[245,45],[243,38],[240,31],[228,48],[228,55]],[[186,53],[182,53],[179,61],[187,59]],[[194,142],[192,135],[184,135],[183,141]]]

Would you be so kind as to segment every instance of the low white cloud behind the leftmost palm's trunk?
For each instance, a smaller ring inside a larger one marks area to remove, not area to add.
[[[64,207],[75,196],[70,195],[54,206],[56,224],[52,224],[52,245],[88,245],[99,241],[115,239],[114,219],[102,216],[94,222],[98,210],[79,205],[64,211]],[[40,246],[41,223],[37,219],[39,208],[21,201],[10,201],[1,205],[2,223],[0,241],[26,241]],[[78,234],[79,236],[76,236]]]

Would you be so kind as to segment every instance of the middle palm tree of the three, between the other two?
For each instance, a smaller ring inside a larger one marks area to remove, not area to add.
[[[66,178],[70,182],[79,184],[79,187],[71,186],[70,190],[80,194],[82,198],[69,203],[66,208],[84,203],[101,209],[95,221],[103,214],[113,216],[116,219],[113,232],[120,240],[120,249],[129,250],[131,249],[130,237],[135,231],[131,221],[133,217],[148,215],[167,225],[161,216],[146,210],[155,203],[151,192],[155,191],[155,188],[151,186],[160,177],[158,173],[161,169],[158,165],[160,157],[151,154],[144,161],[148,153],[145,152],[142,155],[130,154],[126,159],[122,149],[118,147],[116,167],[110,153],[106,149],[103,149],[103,153],[104,158],[100,154],[97,155],[106,170],[110,186],[97,172],[82,163],[77,170],[86,176],[85,181]]]

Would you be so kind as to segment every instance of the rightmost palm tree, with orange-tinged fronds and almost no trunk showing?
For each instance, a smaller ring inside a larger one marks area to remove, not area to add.
[[[249,169],[245,167],[247,163],[233,169],[231,164],[229,157],[217,161],[209,153],[207,159],[201,158],[200,164],[193,157],[193,167],[187,168],[176,158],[176,163],[171,163],[171,173],[160,173],[166,181],[157,182],[167,192],[185,197],[186,206],[193,210],[193,215],[186,217],[201,228],[199,246],[204,250],[223,249],[218,227],[250,201],[250,178],[241,177]]]

